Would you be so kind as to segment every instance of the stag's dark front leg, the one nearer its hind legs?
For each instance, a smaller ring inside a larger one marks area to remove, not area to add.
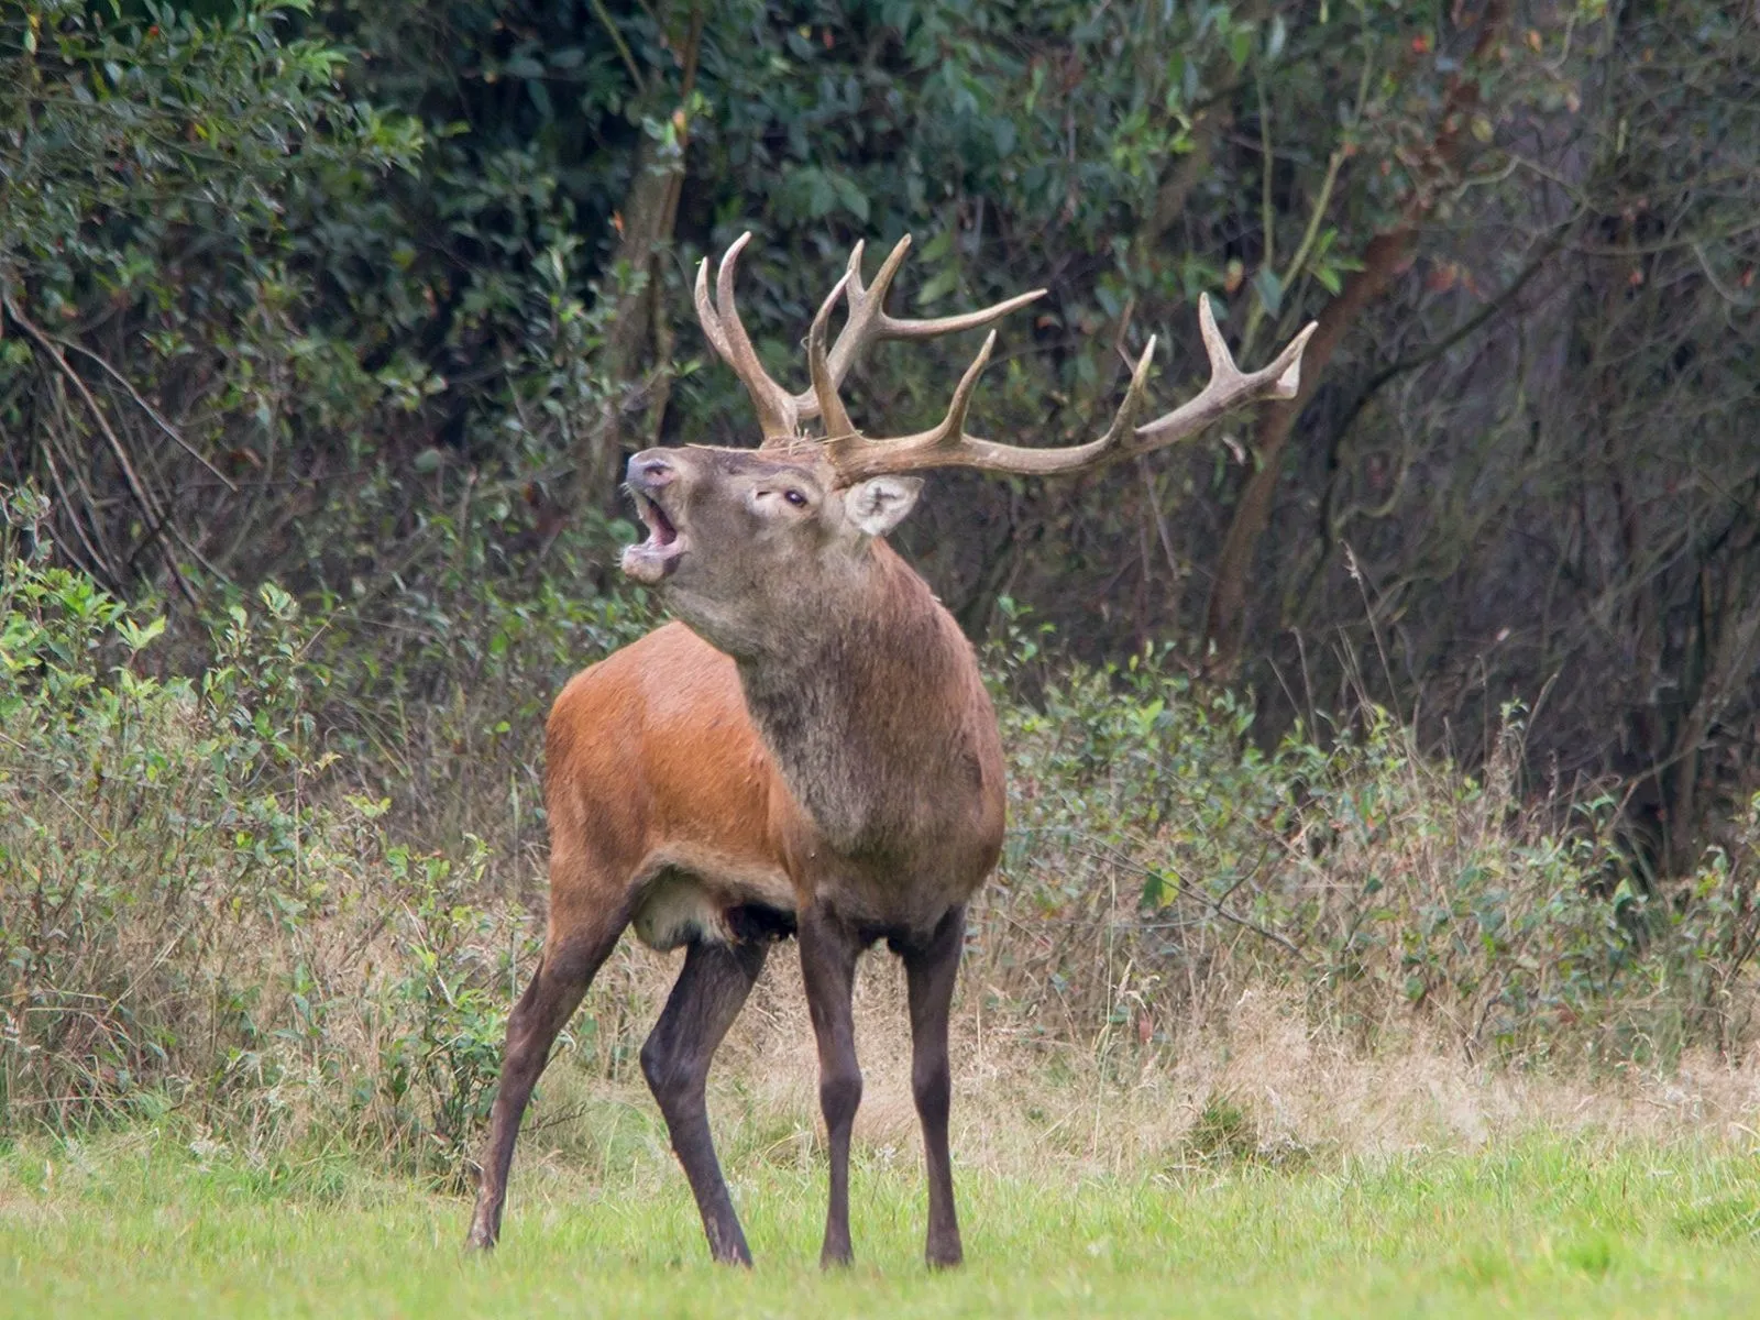
[[[818,1107],[831,1146],[831,1204],[820,1265],[850,1264],[850,1128],[862,1102],[862,1070],[855,1061],[855,956],[861,945],[836,913],[815,903],[799,917],[801,977],[818,1040]]]

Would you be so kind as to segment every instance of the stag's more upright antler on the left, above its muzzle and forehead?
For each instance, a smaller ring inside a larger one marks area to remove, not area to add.
[[[801,438],[801,422],[810,422],[824,415],[824,400],[827,396],[836,400],[838,387],[869,343],[880,340],[933,340],[940,334],[977,329],[1014,312],[1017,306],[1026,306],[1045,292],[1044,289],[1035,289],[994,306],[964,312],[957,317],[931,317],[926,320],[891,317],[885,312],[885,296],[892,287],[892,276],[898,275],[898,268],[905,264],[905,253],[910,252],[910,234],[905,234],[898,241],[871,285],[862,285],[862,245],[857,243],[850,252],[848,271],[838,282],[836,290],[827,299],[827,306],[822,310],[824,315],[829,315],[829,303],[836,301],[838,294],[848,294],[848,320],[838,333],[838,341],[831,345],[831,352],[820,352],[824,361],[815,368],[813,387],[799,394],[790,394],[764,370],[757,350],[752,347],[752,338],[746,334],[746,327],[739,322],[739,304],[734,301],[734,268],[750,238],[750,232],[741,234],[722,255],[722,268],[715,276],[713,301],[709,299],[709,259],[702,259],[702,264],[697,268],[697,320],[702,322],[702,333],[715,347],[715,352],[722,356],[723,363],[734,368],[734,375],[739,377],[752,396],[766,449],[797,442]],[[829,380],[829,391],[818,387],[820,377]],[[843,421],[832,426],[827,415],[827,435],[838,435],[841,429],[847,429],[848,417],[843,412],[843,405],[834,403],[834,410]]]

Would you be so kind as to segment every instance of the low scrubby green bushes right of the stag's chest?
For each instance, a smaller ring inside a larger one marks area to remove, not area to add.
[[[1746,1040],[1760,803],[1646,898],[1610,797],[1517,794],[1519,708],[1478,778],[1373,704],[1267,755],[1251,709],[1170,653],[1047,669],[1010,614],[989,665],[1012,818],[979,926],[1030,1030],[1170,1040],[1272,979],[1364,1044],[1422,1024],[1471,1054],[1610,1063]]]

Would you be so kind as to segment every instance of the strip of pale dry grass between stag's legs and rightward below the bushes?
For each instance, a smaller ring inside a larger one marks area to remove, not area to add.
[[[639,1040],[678,961],[625,949],[605,968],[583,1016],[612,1010]],[[1019,1174],[1045,1162],[1070,1176],[1135,1176],[1192,1158],[1193,1126],[1218,1104],[1244,1116],[1271,1162],[1477,1151],[1526,1133],[1598,1133],[1674,1140],[1697,1135],[1746,1149],[1760,1144],[1760,1065],[1688,1054],[1667,1072],[1533,1072],[1475,1063],[1422,1026],[1366,1052],[1315,1026],[1295,993],[1250,989],[1216,1021],[1144,1047],[1128,1028],[1047,1042],[984,1014],[968,984],[954,1017],[954,1149],[964,1169]],[[910,1038],[896,959],[871,952],[855,991],[864,1072],[855,1140],[869,1158],[915,1162]],[[577,1017],[577,1028],[581,1019]],[[711,1077],[711,1118],[723,1146],[759,1142],[799,1163],[818,1144],[817,1054],[792,945],[771,957]],[[595,1140],[607,1105],[658,1116],[634,1067],[584,1054],[553,1065],[524,1139],[524,1160],[574,1153]]]

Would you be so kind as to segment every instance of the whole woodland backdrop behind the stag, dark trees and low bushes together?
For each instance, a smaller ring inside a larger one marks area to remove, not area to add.
[[[1670,1040],[1746,1038],[1753,0],[0,0],[0,171],[14,1096],[331,1068],[315,1005],[363,991],[322,968],[403,929],[336,1049],[375,1121],[428,1077],[468,1126],[542,713],[653,621],[623,459],[753,438],[690,308],[744,229],[794,382],[857,239],[915,236],[896,310],[1047,287],[973,412],[1017,444],[1096,433],[1149,334],[1193,391],[1202,292],[1248,366],[1320,322],[1294,403],[1084,480],[938,475],[899,533],[1005,697],[1000,892],[1051,935],[994,917],[994,984],[1148,1044],[1248,931],[1325,994],[1447,987],[1463,1040],[1628,975],[1688,986]],[[878,352],[854,415],[926,424],[973,348]],[[273,957],[202,924],[246,889]],[[197,952],[148,1001],[158,940]]]

